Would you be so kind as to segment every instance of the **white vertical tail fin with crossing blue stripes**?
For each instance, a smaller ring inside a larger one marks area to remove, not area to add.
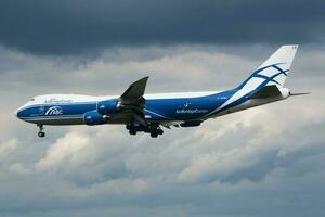
[[[237,89],[252,91],[265,86],[283,87],[294,61],[298,44],[282,46],[260,67],[257,68]]]

